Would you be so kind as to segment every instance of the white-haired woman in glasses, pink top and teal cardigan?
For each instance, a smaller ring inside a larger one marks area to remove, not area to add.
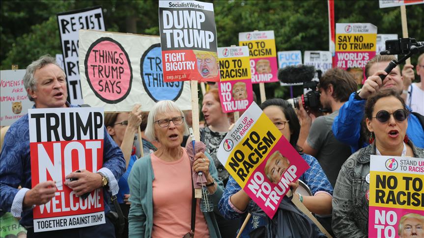
[[[185,148],[188,132],[184,113],[170,100],[159,101],[147,118],[145,135],[161,147],[138,159],[128,178],[131,208],[129,237],[162,238],[190,236],[192,221],[192,173],[202,172],[215,209],[223,193],[214,163],[203,153],[195,155],[193,165]],[[195,237],[220,238],[211,212],[201,212],[196,204]]]

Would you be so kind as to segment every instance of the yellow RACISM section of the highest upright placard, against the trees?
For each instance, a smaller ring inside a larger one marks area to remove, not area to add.
[[[248,46],[250,58],[277,57],[275,39],[240,41],[239,46]]]

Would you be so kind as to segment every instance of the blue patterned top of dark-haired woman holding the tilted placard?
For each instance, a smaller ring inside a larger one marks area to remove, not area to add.
[[[309,164],[310,168],[307,171],[305,171],[305,173],[303,173],[299,177],[299,179],[305,182],[305,184],[311,188],[312,194],[314,195],[317,192],[326,192],[332,195],[333,186],[328,181],[327,176],[325,175],[324,171],[321,168],[321,165],[319,165],[318,163],[318,160],[316,160],[314,157],[307,154],[303,154],[301,156]],[[219,211],[226,219],[235,220],[235,219],[244,217],[244,212],[240,213],[235,211],[234,208],[230,205],[230,201],[229,201],[229,198],[240,190],[241,190],[240,185],[238,185],[237,182],[234,180],[234,178],[230,176],[228,179],[226,188],[224,190],[224,194],[219,202]],[[243,221],[244,220],[242,220],[241,222]],[[249,238],[250,232],[252,232],[254,229],[258,227],[265,226],[265,225],[266,225],[266,220],[263,217],[252,215],[252,217],[249,219],[248,224],[243,230],[241,237]]]

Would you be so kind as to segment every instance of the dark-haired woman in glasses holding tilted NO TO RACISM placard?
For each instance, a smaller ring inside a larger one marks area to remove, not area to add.
[[[265,115],[271,119],[274,125],[280,130],[283,136],[290,142],[309,164],[310,168],[300,176],[300,180],[305,182],[311,188],[313,196],[299,196],[299,199],[315,214],[331,214],[331,199],[333,194],[333,187],[327,179],[324,171],[319,165],[318,161],[310,155],[304,154],[302,148],[297,145],[297,140],[300,133],[300,123],[296,116],[293,107],[283,99],[269,99],[260,105]],[[283,148],[282,148],[283,149]],[[279,155],[271,155],[272,158],[266,167],[266,173],[271,181],[278,181],[281,178],[283,170],[286,169],[284,158]],[[298,187],[297,183],[290,183],[292,190],[295,191]],[[245,217],[254,205],[249,195],[241,189],[240,185],[229,176],[224,195],[220,200],[219,209],[221,214],[226,219],[239,219]],[[240,225],[244,219],[242,219]],[[252,215],[248,221],[241,237],[249,238],[249,233],[257,228],[267,225],[267,220],[263,217]]]

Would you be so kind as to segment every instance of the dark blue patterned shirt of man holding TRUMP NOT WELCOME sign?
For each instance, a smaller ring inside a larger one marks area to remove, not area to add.
[[[106,128],[104,128],[103,168],[109,169],[116,180],[125,172],[124,155]],[[105,176],[107,175],[105,174]],[[107,177],[109,179],[109,176]],[[117,186],[117,181],[115,183]],[[32,187],[28,114],[13,123],[4,136],[0,156],[0,215],[4,212],[11,212],[19,185],[22,186],[22,189]],[[103,190],[103,194],[105,194],[105,213],[107,213],[110,208],[106,203],[106,198],[109,196],[107,196],[106,190]],[[33,226],[32,209],[23,211],[21,217],[21,225]]]

